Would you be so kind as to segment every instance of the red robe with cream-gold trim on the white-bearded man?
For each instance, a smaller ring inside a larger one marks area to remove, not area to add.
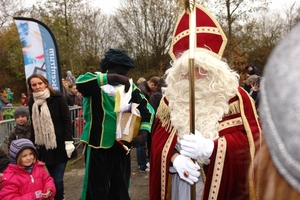
[[[177,135],[171,125],[167,104],[163,98],[153,126],[150,200],[169,199],[171,193],[169,166]],[[220,121],[219,138],[214,140],[210,164],[204,166],[204,200],[255,199],[253,159],[260,136],[254,102],[244,89],[239,88],[237,95],[229,101],[229,114]]]

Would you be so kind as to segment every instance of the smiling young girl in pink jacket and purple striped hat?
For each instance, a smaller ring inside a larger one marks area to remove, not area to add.
[[[13,140],[9,149],[10,164],[1,180],[2,200],[53,199],[53,178],[37,160],[37,151],[28,139]]]

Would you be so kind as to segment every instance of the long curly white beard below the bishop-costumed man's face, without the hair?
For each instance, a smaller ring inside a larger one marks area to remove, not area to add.
[[[219,121],[228,112],[228,97],[226,98],[220,91],[209,91],[205,85],[207,82],[204,80],[197,80],[195,84],[195,128],[205,138],[215,139],[219,135]],[[188,80],[182,80],[173,89],[166,90],[172,90],[166,97],[172,110],[172,125],[181,139],[184,134],[190,133]]]

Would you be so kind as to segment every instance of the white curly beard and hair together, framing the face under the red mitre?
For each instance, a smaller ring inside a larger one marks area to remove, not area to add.
[[[183,57],[167,71],[168,86],[164,89],[179,140],[190,133],[189,80],[184,78],[188,59]],[[219,136],[219,121],[229,111],[228,101],[237,93],[238,74],[209,55],[199,53],[195,58],[195,65],[207,71],[206,78],[195,80],[195,128],[205,138],[215,139]]]

